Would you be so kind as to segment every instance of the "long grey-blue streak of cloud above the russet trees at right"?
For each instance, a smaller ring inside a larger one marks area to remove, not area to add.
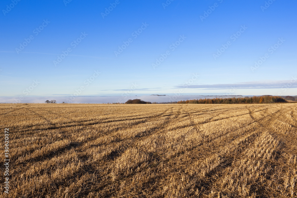
[[[274,80],[274,81],[252,81],[252,82],[242,82],[234,84],[214,84],[214,85],[177,85],[173,89],[178,88],[190,88],[190,89],[230,89],[234,87],[236,89],[274,89],[282,88],[284,85],[290,83],[290,88],[297,88],[297,81],[293,82],[291,80]],[[292,85],[291,85],[292,84]]]

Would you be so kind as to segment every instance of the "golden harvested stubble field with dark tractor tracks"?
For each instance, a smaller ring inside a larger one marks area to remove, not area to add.
[[[10,131],[0,197],[297,197],[296,104],[0,110],[3,144]]]

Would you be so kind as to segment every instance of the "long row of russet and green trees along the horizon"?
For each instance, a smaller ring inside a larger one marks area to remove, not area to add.
[[[194,99],[178,101],[177,104],[261,104],[287,102],[279,96],[253,96],[244,98],[214,98],[214,99]]]

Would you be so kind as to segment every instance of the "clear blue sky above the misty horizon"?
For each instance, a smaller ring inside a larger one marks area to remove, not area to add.
[[[297,95],[296,1],[4,0],[0,8],[0,96]]]

